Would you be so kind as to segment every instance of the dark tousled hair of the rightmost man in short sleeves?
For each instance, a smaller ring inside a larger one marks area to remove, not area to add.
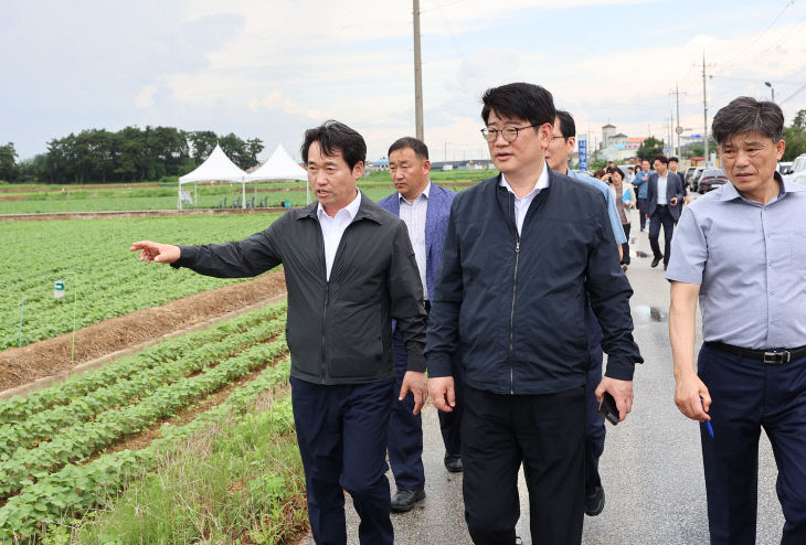
[[[784,135],[784,114],[775,103],[740,96],[717,111],[711,132],[718,145],[745,132],[760,132],[777,142]]]

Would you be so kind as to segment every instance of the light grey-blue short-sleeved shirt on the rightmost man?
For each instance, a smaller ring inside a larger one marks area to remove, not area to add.
[[[806,345],[806,188],[766,205],[732,183],[683,210],[668,280],[700,285],[702,336],[745,349]]]

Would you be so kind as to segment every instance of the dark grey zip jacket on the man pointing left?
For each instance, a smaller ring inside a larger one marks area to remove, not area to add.
[[[289,211],[241,242],[180,246],[173,266],[242,278],[282,263],[288,289],[286,341],[296,378],[317,384],[392,378],[392,319],[403,333],[409,370],[425,371],[423,287],[403,221],[362,194],[328,281],[316,211],[317,203]]]

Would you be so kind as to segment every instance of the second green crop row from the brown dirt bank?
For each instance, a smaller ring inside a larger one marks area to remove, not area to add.
[[[256,343],[266,342],[277,336],[284,325],[285,319],[277,318],[219,342],[199,345],[177,360],[141,368],[127,380],[97,388],[67,405],[36,413],[19,424],[0,426],[0,461],[9,459],[19,449],[29,449],[50,439],[63,427],[87,420],[104,410],[125,406],[161,385],[171,384],[182,376],[232,357]]]

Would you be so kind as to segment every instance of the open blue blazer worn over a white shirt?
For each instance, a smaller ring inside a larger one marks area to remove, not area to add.
[[[442,257],[445,232],[448,228],[450,203],[456,193],[443,189],[435,183],[428,192],[428,207],[425,212],[425,289],[428,290],[428,300],[434,299],[434,281],[436,268]],[[378,201],[378,205],[392,214],[400,216],[400,193],[393,193]]]

